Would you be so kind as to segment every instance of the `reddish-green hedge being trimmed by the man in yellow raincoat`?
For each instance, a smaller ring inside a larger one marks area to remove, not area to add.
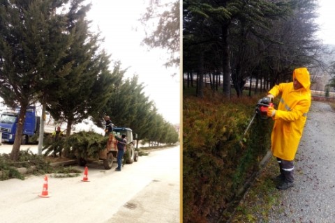
[[[257,101],[184,98],[184,222],[209,222],[218,217],[258,170],[270,148],[273,121],[255,118],[243,137]]]

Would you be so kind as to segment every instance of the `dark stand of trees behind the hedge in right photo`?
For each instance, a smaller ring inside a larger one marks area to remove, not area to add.
[[[231,83],[241,95],[246,77],[271,86],[292,79],[292,70],[325,65],[326,54],[316,38],[318,8],[314,0],[185,0],[184,73],[197,75],[197,95],[203,78],[211,75],[212,89],[223,76],[223,94]]]

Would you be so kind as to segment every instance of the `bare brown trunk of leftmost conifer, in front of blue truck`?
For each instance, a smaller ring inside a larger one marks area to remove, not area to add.
[[[17,117],[14,144],[13,144],[12,152],[10,153],[10,160],[13,160],[13,161],[17,161],[19,159],[26,110],[27,110],[27,105],[21,105],[20,114]]]

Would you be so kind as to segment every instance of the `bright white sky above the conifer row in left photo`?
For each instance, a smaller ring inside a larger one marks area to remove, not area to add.
[[[172,1],[172,0],[164,0]],[[167,54],[163,49],[141,46],[144,29],[138,22],[145,13],[149,0],[110,1],[88,0],[91,10],[88,18],[92,29],[100,29],[105,37],[103,48],[111,59],[121,61],[128,68],[126,77],[138,75],[145,93],[153,100],[166,121],[179,123],[180,84],[179,68],[165,68]],[[172,77],[173,74],[177,74]]]

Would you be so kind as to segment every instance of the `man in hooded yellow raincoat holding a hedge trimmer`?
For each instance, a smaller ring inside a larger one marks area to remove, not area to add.
[[[311,81],[307,68],[293,71],[293,82],[274,86],[270,98],[281,95],[278,110],[269,107],[267,116],[274,119],[271,133],[271,151],[277,158],[281,174],[276,177],[279,190],[293,187],[295,153],[299,146],[306,115],[311,107]]]

